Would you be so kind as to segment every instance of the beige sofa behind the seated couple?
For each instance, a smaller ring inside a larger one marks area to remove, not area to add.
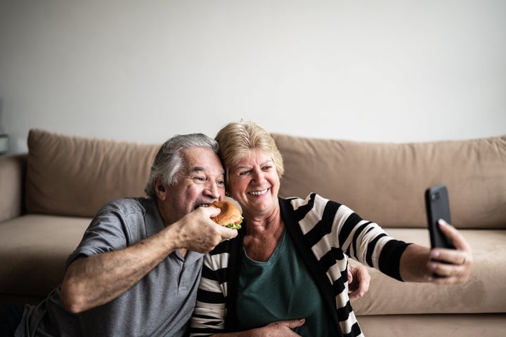
[[[506,136],[360,143],[273,134],[282,197],[318,192],[429,244],[423,193],[445,183],[453,223],[474,253],[469,282],[408,284],[375,270],[352,303],[366,336],[503,336],[506,331]],[[159,145],[32,130],[27,154],[0,157],[0,302],[34,303],[110,199],[143,195]]]

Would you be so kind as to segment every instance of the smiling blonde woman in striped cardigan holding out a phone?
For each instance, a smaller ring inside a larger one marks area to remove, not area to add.
[[[472,254],[454,227],[441,223],[457,249],[431,250],[389,237],[318,194],[281,199],[283,159],[264,129],[231,123],[216,140],[245,221],[238,237],[205,258],[193,336],[363,336],[349,300],[348,257],[401,281],[469,277]]]

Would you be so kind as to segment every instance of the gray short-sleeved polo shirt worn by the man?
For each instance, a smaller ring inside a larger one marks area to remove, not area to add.
[[[155,201],[111,201],[93,218],[67,265],[81,256],[115,251],[160,232]],[[78,315],[63,309],[60,286],[27,306],[15,336],[186,336],[195,307],[203,255],[175,251],[115,300]]]

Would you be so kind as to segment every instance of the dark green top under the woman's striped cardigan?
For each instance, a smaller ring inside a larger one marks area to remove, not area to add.
[[[253,329],[284,319],[305,318],[293,329],[301,336],[336,336],[315,282],[287,235],[267,262],[249,258],[243,250],[238,290],[240,329]]]

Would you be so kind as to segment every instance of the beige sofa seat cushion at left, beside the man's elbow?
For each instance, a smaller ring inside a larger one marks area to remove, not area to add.
[[[62,280],[90,218],[28,214],[0,223],[1,294],[46,296]]]

